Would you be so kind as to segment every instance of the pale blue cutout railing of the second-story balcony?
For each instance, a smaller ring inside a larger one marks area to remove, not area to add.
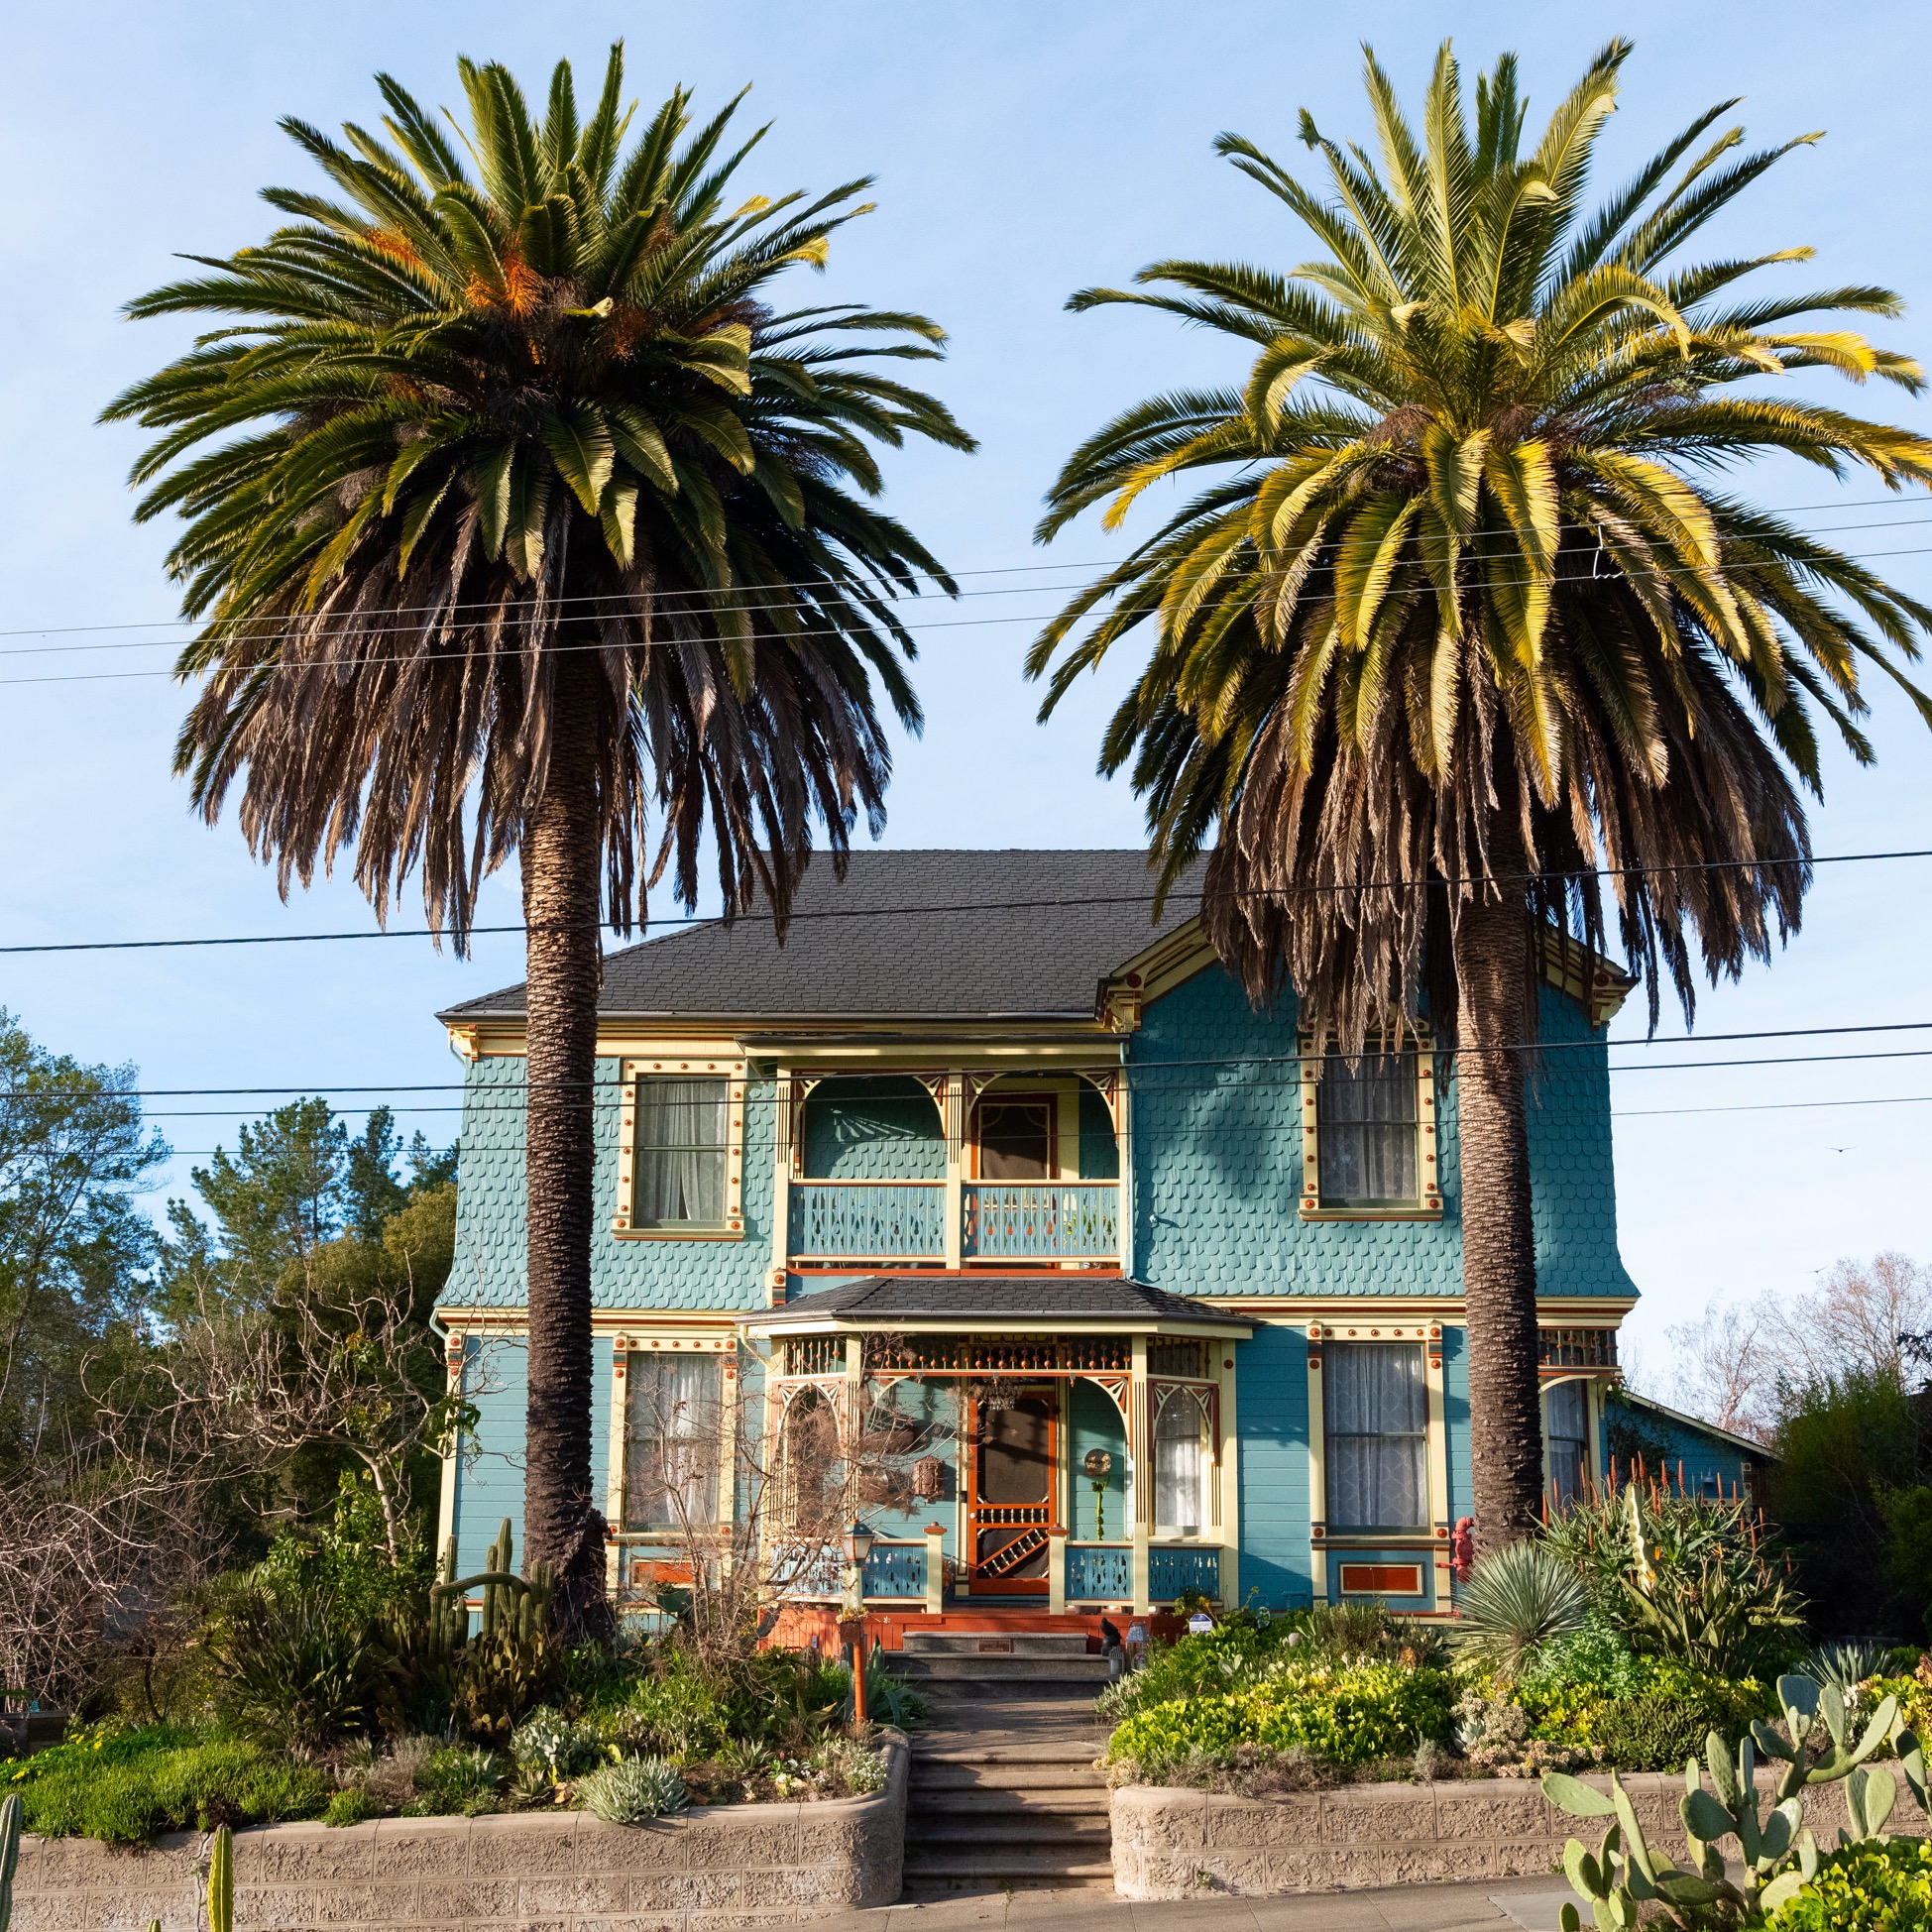
[[[947,1260],[956,1211],[962,1262],[1119,1262],[1117,1180],[968,1180],[956,1208],[945,1180],[792,1180],[790,1258]]]

